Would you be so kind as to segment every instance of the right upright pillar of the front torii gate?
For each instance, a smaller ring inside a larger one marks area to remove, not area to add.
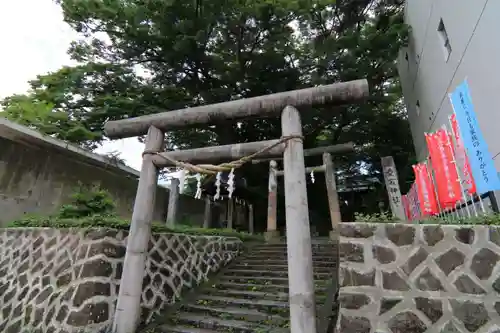
[[[297,109],[281,115],[283,136],[302,135]],[[316,302],[302,140],[290,140],[283,155],[285,170],[286,236],[290,298],[290,332],[316,333]]]

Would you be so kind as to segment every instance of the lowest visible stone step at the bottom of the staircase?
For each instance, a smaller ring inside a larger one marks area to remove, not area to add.
[[[289,330],[286,328],[278,328],[256,323],[248,323],[241,320],[225,320],[211,316],[201,316],[201,315],[182,313],[182,312],[176,316],[175,322],[176,322],[175,325],[170,325],[170,326],[164,325],[161,327],[162,329],[163,328],[171,329],[172,326],[175,328],[177,324],[181,324],[181,327],[187,325],[193,325],[198,329],[210,329],[214,330],[215,332],[231,332],[231,333],[255,333],[255,332],[288,333],[289,332]]]

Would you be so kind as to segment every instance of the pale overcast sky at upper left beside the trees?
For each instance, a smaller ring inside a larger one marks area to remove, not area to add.
[[[0,99],[24,93],[38,74],[70,65],[66,51],[76,33],[53,0],[0,0]],[[119,151],[127,165],[141,167],[137,139],[108,142],[98,153]]]

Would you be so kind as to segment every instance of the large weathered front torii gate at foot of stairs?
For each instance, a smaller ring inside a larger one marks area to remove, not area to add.
[[[311,235],[306,193],[302,124],[297,107],[357,102],[368,96],[367,80],[335,83],[301,90],[240,99],[194,108],[162,112],[137,118],[109,121],[104,130],[109,138],[126,138],[147,134],[146,148],[134,211],[127,242],[127,251],[120,283],[120,292],[113,322],[114,333],[134,333],[140,319],[142,279],[146,263],[151,222],[155,205],[158,170],[171,154],[163,152],[164,131],[187,126],[208,124],[222,119],[269,117],[281,112],[281,141],[274,140],[283,152],[287,250],[290,302],[290,328],[292,333],[316,333],[316,309],[312,266]],[[282,142],[280,144],[280,142]],[[221,160],[240,158],[255,153],[270,142],[254,142],[211,147]],[[222,147],[225,147],[222,149]],[[245,151],[246,150],[246,151]],[[264,152],[261,158],[267,157]],[[191,163],[203,161],[200,156],[186,156]]]

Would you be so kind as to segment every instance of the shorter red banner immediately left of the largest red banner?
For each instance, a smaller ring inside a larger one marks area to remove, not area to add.
[[[425,163],[413,165],[415,172],[415,183],[417,184],[418,201],[422,216],[430,216],[439,213],[434,185],[429,177],[429,171]]]

